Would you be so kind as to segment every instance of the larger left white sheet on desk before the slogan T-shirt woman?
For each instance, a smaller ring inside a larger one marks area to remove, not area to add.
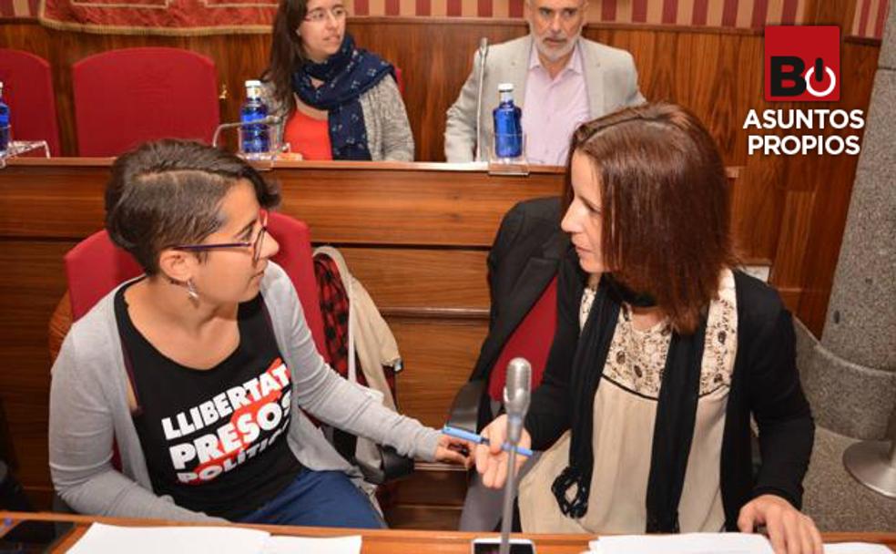
[[[69,554],[247,554],[270,533],[234,527],[118,527],[94,523]]]

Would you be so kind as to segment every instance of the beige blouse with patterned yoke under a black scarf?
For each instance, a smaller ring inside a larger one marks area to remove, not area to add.
[[[585,325],[595,291],[585,289],[579,313]],[[725,270],[709,305],[694,439],[678,505],[682,532],[718,531],[725,523],[719,488],[722,432],[738,347],[734,274]],[[569,433],[548,449],[520,483],[525,532],[643,533],[647,477],[657,399],[672,339],[668,322],[637,330],[624,306],[606,356],[594,405],[595,468],[584,518],[566,518],[551,484],[566,467]]]

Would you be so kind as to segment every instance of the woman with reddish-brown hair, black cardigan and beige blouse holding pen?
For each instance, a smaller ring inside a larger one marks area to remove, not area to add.
[[[570,152],[557,330],[524,424],[524,446],[546,450],[521,484],[524,530],[764,524],[777,552],[820,553],[799,513],[814,425],[793,325],[737,269],[714,141],[684,108],[653,104],[586,123]],[[483,434],[500,446],[505,426]],[[478,446],[476,463],[503,485],[506,454]]]

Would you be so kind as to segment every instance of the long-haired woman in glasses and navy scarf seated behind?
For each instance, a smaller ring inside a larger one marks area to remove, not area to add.
[[[395,68],[354,46],[341,0],[281,0],[265,93],[274,144],[304,159],[413,160]]]

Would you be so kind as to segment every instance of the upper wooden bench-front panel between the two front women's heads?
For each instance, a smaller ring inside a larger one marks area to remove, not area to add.
[[[282,210],[309,224],[312,241],[488,247],[515,202],[553,196],[562,183],[562,174],[548,169],[501,186],[501,178],[489,180],[476,171],[337,172],[331,167],[272,172],[287,192]]]

